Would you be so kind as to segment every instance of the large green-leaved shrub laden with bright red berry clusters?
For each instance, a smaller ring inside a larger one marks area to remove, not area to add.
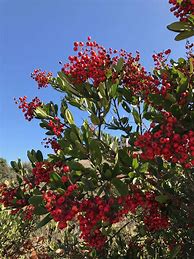
[[[192,1],[169,2],[176,26],[193,26]],[[192,44],[177,61],[170,49],[154,54],[152,72],[138,52],[105,49],[91,37],[73,49],[55,77],[32,73],[38,88],[60,92],[60,105],[16,101],[27,120],[40,121],[53,152],[28,151],[31,174],[11,162],[17,183],[1,184],[0,202],[24,220],[39,215],[38,228],[52,220],[76,230],[88,258],[192,258]],[[81,126],[72,106],[88,113]]]

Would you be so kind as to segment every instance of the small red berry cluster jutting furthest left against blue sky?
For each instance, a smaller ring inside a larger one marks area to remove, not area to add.
[[[42,103],[38,97],[35,97],[31,102],[27,102],[27,96],[20,97],[17,101],[15,98],[15,103],[18,104],[19,102],[19,109],[22,109],[24,113],[25,119],[31,121],[34,117],[34,111],[37,107],[41,106]]]

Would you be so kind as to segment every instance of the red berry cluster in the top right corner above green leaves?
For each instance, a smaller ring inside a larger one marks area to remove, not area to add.
[[[189,15],[194,14],[194,0],[169,0],[169,3],[173,5],[170,11],[182,22],[188,21]]]

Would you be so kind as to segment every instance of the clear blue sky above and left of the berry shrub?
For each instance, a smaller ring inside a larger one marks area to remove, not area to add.
[[[184,56],[185,42],[166,29],[175,20],[168,0],[0,0],[0,156],[27,160],[27,150],[44,151],[44,130],[37,120],[26,121],[13,101],[61,99],[52,89],[37,89],[30,78],[35,68],[55,74],[72,43],[90,35],[105,47],[139,50],[151,70],[154,51],[171,48],[173,58]]]

